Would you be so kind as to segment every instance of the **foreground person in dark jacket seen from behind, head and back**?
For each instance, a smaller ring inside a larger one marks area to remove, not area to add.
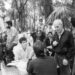
[[[33,49],[37,58],[27,65],[29,75],[57,75],[56,61],[51,56],[45,56],[44,43],[38,40],[33,45]]]

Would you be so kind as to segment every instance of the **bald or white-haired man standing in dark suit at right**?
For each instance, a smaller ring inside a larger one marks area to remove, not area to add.
[[[53,22],[55,41],[53,42],[55,58],[60,67],[60,75],[70,75],[70,60],[73,59],[74,39],[72,33],[64,30],[61,19]]]

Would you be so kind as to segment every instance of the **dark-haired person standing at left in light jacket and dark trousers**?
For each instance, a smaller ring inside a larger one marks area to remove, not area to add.
[[[7,34],[6,54],[9,60],[12,60],[13,59],[12,49],[18,43],[18,31],[14,26],[12,26],[12,21],[6,22],[6,34]]]

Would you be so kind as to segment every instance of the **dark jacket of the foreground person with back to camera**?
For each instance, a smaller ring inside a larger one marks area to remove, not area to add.
[[[28,64],[29,75],[57,75],[56,61],[52,57],[36,58]]]

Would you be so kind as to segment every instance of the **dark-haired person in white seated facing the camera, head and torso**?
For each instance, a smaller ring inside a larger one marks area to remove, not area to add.
[[[13,54],[15,60],[28,60],[32,58],[33,48],[28,46],[25,37],[21,37],[18,45],[13,48]]]

